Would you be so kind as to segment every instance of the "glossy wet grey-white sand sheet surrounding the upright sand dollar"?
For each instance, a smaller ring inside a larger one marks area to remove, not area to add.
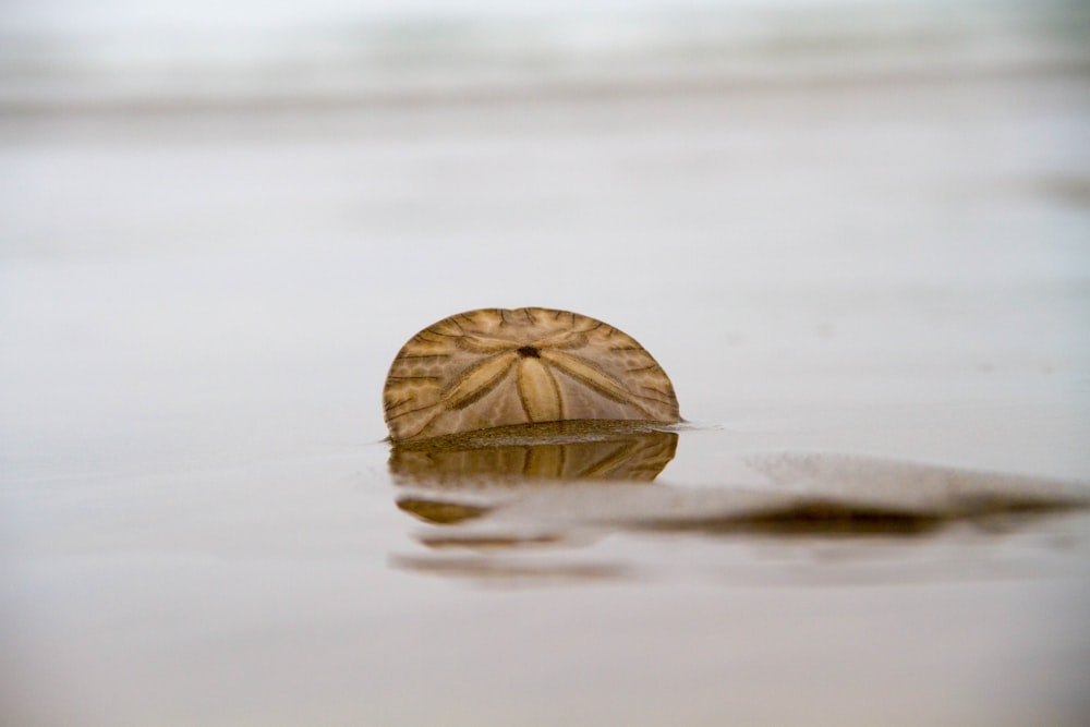
[[[1087,85],[5,114],[5,722],[1082,724]],[[521,305],[689,424],[392,452]]]

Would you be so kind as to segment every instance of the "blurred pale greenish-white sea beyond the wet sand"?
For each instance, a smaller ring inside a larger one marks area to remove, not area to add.
[[[0,112],[1085,73],[1087,28],[1064,0],[14,2]]]

